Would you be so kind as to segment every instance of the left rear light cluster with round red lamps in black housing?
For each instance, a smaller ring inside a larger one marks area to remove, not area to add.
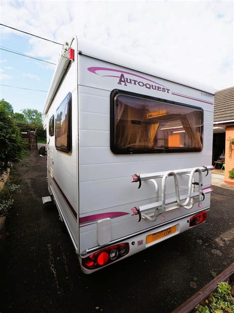
[[[128,243],[118,244],[95,252],[87,258],[82,259],[82,265],[87,269],[99,268],[122,258],[128,252]]]

